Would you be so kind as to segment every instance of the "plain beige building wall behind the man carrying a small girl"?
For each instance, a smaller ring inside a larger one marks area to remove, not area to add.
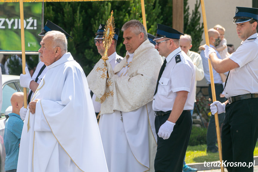
[[[225,39],[227,39],[228,44],[233,44],[235,49],[238,48],[241,39],[238,38],[236,25],[233,24],[236,7],[252,7],[252,2],[252,0],[204,0],[208,29],[213,28],[217,24],[222,25],[226,29]],[[193,10],[195,4],[196,0],[188,0],[190,11]],[[201,12],[201,6],[199,10]],[[202,12],[201,22],[203,22]],[[204,33],[202,39],[201,44],[205,44]]]

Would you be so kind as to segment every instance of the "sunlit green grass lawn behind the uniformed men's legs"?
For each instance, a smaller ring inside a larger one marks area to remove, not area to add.
[[[219,161],[219,153],[206,153],[206,144],[198,146],[188,146],[186,151],[185,162],[187,164],[196,162]],[[254,149],[254,156],[258,156],[258,144]]]

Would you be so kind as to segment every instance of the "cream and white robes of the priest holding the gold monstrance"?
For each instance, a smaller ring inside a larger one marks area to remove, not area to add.
[[[154,171],[152,98],[161,65],[161,56],[147,39],[133,54],[127,52],[114,71],[100,59],[87,77],[103,101],[99,129],[109,172]]]

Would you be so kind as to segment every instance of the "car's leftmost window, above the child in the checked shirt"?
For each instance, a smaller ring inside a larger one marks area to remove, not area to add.
[[[16,89],[16,86],[14,83],[8,83],[4,85],[3,87],[3,104],[2,104],[2,109],[1,109],[1,115],[4,115],[5,110],[7,109],[8,106],[11,106],[11,97],[13,93],[17,92],[18,90]]]

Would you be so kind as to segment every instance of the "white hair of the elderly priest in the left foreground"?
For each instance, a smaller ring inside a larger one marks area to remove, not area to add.
[[[61,52],[65,54],[67,52],[67,39],[65,34],[59,31],[48,31],[46,35],[51,34],[53,36],[53,45],[55,47],[60,47]]]

